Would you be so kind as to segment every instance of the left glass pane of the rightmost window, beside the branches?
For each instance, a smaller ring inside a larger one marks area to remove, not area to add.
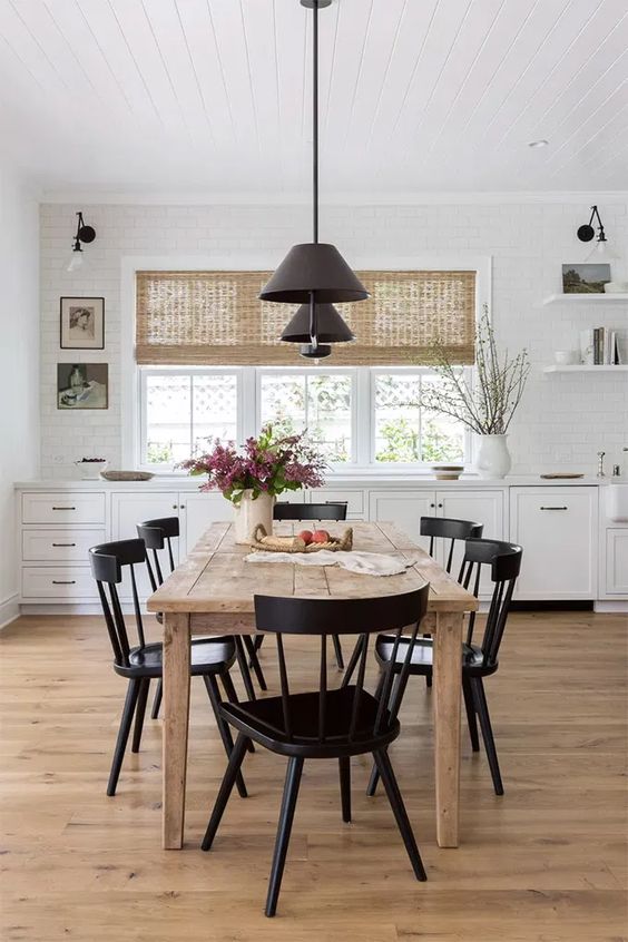
[[[419,376],[375,377],[375,461],[420,460],[421,381]]]

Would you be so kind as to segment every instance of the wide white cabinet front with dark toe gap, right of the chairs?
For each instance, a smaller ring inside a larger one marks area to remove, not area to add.
[[[523,547],[519,599],[597,598],[598,490],[511,488],[510,537]]]

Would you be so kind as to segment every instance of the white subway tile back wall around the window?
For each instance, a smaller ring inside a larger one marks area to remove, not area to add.
[[[86,265],[69,274],[75,213],[80,208],[97,232],[86,247]],[[601,204],[607,234],[622,258],[614,277],[628,272],[626,203]],[[588,218],[588,200],[579,203],[508,203],[503,205],[325,206],[323,237],[345,257],[416,257],[416,267],[434,253],[448,257],[493,258],[492,316],[501,344],[528,346],[532,374],[510,430],[514,473],[569,469],[596,470],[596,452],[606,451],[608,467],[621,461],[628,447],[628,373],[542,373],[555,350],[578,346],[585,327],[604,325],[622,332],[628,359],[626,305],[552,305],[541,300],[560,291],[563,262],[583,261],[586,246],[576,238]],[[268,253],[278,263],[290,245],[306,239],[305,206],[126,206],[58,205],[41,207],[41,474],[62,479],[82,455],[122,463],[120,420],[121,261],[130,256],[215,255],[236,267],[258,265]],[[423,256],[423,261],[422,261]],[[104,351],[59,347],[61,295],[105,296]],[[107,411],[59,411],[58,362],[109,363]],[[295,357],[295,365],[297,359]]]

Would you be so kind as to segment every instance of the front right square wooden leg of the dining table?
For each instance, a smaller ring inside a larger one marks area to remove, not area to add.
[[[434,762],[436,840],[458,847],[462,612],[436,612],[434,632]]]

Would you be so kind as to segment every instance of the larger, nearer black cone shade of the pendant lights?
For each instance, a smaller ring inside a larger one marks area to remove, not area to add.
[[[369,297],[369,292],[335,245],[325,243],[293,245],[259,297],[284,304],[308,304],[312,293],[318,304]]]

